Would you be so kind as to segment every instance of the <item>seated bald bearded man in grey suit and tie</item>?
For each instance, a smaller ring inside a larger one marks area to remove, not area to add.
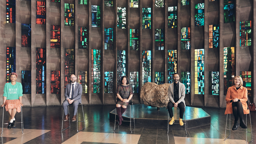
[[[75,74],[71,74],[70,76],[71,83],[66,85],[65,89],[65,98],[64,102],[62,103],[62,107],[64,109],[65,117],[63,121],[67,121],[69,118],[69,110],[67,106],[73,105],[74,110],[74,116],[72,118],[72,121],[76,121],[76,113],[78,104],[82,102],[81,95],[83,92],[82,85],[76,82],[76,76]]]

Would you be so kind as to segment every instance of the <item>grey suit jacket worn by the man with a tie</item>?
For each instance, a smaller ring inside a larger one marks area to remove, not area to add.
[[[70,89],[71,87],[71,83],[67,84],[66,89],[65,89],[65,99],[69,98],[69,94],[70,94]],[[82,85],[76,82],[76,86],[74,89],[74,100],[78,100],[79,103],[82,102],[81,100],[81,96],[82,96],[82,92],[83,92],[83,88]]]

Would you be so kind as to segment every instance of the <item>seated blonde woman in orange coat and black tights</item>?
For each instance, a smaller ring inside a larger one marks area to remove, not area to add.
[[[232,114],[235,117],[234,126],[232,130],[237,130],[238,118],[240,119],[240,126],[242,128],[247,128],[244,124],[243,114],[249,114],[249,109],[247,109],[247,89],[243,87],[243,79],[240,76],[233,78],[232,85],[227,90],[227,107],[225,114]]]

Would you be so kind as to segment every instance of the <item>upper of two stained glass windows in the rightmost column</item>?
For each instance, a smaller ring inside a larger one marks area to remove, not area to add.
[[[240,46],[251,46],[251,20],[240,22]]]

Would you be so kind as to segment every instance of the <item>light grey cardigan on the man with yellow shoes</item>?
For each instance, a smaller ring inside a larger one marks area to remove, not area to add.
[[[174,100],[173,100],[174,99],[173,83],[171,83],[171,85],[168,88],[168,97],[170,98],[170,101],[172,103],[174,103]],[[179,82],[179,101],[178,101],[178,103],[183,102],[184,105],[186,106],[185,100],[184,100],[184,98],[185,98],[185,90],[186,90],[185,85],[183,83]]]

